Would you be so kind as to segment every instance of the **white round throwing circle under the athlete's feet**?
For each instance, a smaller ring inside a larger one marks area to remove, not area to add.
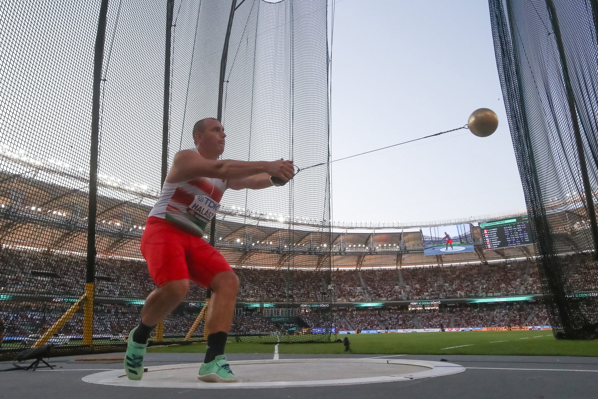
[[[147,367],[141,381],[129,380],[124,370],[90,374],[91,383],[149,388],[276,388],[283,386],[352,385],[445,376],[465,370],[458,364],[398,359],[288,359],[228,362],[243,382],[209,383],[197,380],[200,363]]]

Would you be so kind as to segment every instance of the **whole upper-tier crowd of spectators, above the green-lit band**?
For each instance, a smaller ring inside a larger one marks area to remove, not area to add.
[[[0,292],[81,296],[85,285],[86,258],[80,254],[0,251]],[[578,267],[583,265],[578,264]],[[334,270],[330,281],[325,272],[297,269],[236,267],[240,301],[396,301],[462,297],[509,296],[541,292],[538,270],[527,261],[486,266],[468,264],[446,267],[403,268],[399,271]],[[359,273],[364,281],[362,285]],[[98,258],[96,296],[145,298],[154,290],[147,264],[142,260]],[[205,289],[191,285],[187,298],[204,300]]]

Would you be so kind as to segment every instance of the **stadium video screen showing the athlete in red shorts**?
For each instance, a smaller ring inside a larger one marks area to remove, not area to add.
[[[424,255],[446,255],[474,251],[469,223],[423,228],[422,235],[425,245]]]

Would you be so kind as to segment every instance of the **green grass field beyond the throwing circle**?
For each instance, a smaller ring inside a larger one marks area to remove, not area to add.
[[[359,334],[348,337],[353,354],[598,356],[598,342],[557,340],[550,330]],[[458,348],[453,348],[455,346]],[[205,351],[204,344],[148,348],[148,352]],[[280,354],[346,353],[341,343],[281,343],[278,351]],[[273,354],[274,344],[227,343],[227,352]]]

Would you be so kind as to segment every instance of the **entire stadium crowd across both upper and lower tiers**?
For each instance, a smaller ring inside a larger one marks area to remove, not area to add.
[[[590,261],[577,261],[575,270],[590,275]],[[573,267],[572,266],[572,267]],[[0,294],[43,294],[78,298],[85,286],[86,258],[81,254],[0,249]],[[527,261],[509,261],[486,266],[463,265],[447,267],[417,267],[381,270],[334,270],[332,279],[321,271],[288,268],[258,269],[236,267],[240,279],[239,301],[269,303],[276,301],[323,302],[396,301],[441,299],[457,297],[509,296],[541,292],[538,270]],[[360,279],[363,279],[363,283]],[[399,278],[401,273],[402,279]],[[597,278],[598,279],[598,278]],[[575,283],[577,284],[577,283]],[[154,290],[147,264],[142,260],[98,258],[96,263],[95,296],[97,298],[145,299]],[[206,290],[191,285],[187,300],[205,300]],[[7,334],[33,334],[52,325],[72,303],[48,301],[22,302],[19,307],[4,306],[0,316],[7,324]],[[94,307],[95,334],[128,333],[139,321],[139,306],[99,304]],[[197,309],[178,309],[165,321],[165,330],[184,334],[199,313]],[[238,311],[231,333],[247,331],[271,333],[279,331],[267,318],[255,313]],[[406,310],[358,310],[345,312],[336,318],[338,328],[346,327],[343,318],[353,327],[379,328],[438,328],[482,327],[508,325],[545,325],[548,315],[544,306],[503,306],[444,309],[440,312],[407,312]],[[300,314],[310,327],[324,327],[317,312]],[[60,333],[83,334],[83,313],[77,313],[62,327]],[[202,322],[203,323],[203,322]],[[347,326],[348,327],[348,326]],[[203,331],[200,324],[198,331]]]

